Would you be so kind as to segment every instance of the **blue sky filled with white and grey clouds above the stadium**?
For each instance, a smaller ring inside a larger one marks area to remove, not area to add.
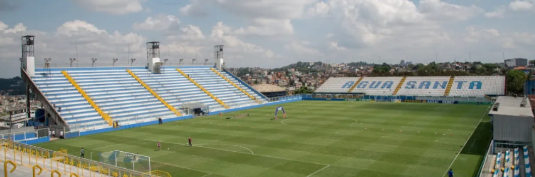
[[[228,67],[533,59],[534,17],[535,0],[0,0],[0,78],[19,75],[21,35],[52,63],[77,47],[79,62],[142,62],[149,41],[177,62],[225,45]]]

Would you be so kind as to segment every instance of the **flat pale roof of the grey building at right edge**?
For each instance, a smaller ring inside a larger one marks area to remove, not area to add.
[[[521,104],[525,106],[521,107]],[[494,111],[494,107],[498,106],[498,111]],[[505,115],[518,117],[533,117],[531,112],[531,104],[528,99],[523,97],[499,96],[488,114],[491,115]]]

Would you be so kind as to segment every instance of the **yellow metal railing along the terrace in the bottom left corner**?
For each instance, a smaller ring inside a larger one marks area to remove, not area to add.
[[[60,173],[62,176],[158,176],[152,172],[145,174],[143,172],[137,172],[86,158],[68,155],[66,150],[52,151],[6,139],[0,139],[0,161],[4,163],[6,161],[12,161],[14,164],[27,166],[33,168],[33,170],[39,168],[41,172],[48,171],[48,173]],[[17,168],[15,172],[21,171],[18,169],[19,168]],[[162,171],[158,171],[157,174],[165,176],[165,173]]]

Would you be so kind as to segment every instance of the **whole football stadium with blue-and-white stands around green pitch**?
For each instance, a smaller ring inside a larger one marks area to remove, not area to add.
[[[22,42],[43,121],[2,135],[9,176],[531,176],[532,105],[505,96],[506,76],[330,78],[266,97],[222,45],[213,63],[165,65],[148,42],[142,66],[62,66]]]

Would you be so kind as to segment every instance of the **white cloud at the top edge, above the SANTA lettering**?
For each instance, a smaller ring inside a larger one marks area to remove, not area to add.
[[[455,5],[440,0],[420,1],[418,9],[425,14],[427,18],[438,21],[467,20],[483,12],[483,9],[475,5]]]

